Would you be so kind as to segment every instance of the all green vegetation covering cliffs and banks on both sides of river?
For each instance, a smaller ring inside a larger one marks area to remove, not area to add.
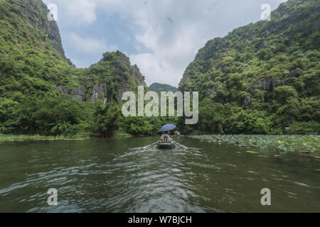
[[[289,0],[260,21],[208,41],[179,89],[199,91],[199,122],[120,114],[121,95],[144,76],[122,52],[86,69],[65,58],[58,26],[40,0],[0,0],[0,133],[62,136],[154,135],[164,123],[183,134],[317,134],[319,3]],[[60,87],[60,90],[58,89]],[[152,84],[156,92],[176,88]],[[80,100],[80,101],[79,101]]]

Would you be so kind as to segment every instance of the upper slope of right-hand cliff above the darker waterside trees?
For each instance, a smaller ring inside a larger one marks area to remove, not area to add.
[[[272,12],[271,21],[209,40],[188,65],[179,89],[242,107],[253,99],[272,101],[277,87],[294,87],[301,97],[319,94],[304,91],[318,89],[319,9],[319,1],[289,0]]]

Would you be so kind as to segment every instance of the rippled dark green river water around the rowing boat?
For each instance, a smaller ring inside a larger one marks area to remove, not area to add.
[[[318,158],[186,137],[189,149],[142,148],[157,139],[1,143],[0,211],[320,212]]]

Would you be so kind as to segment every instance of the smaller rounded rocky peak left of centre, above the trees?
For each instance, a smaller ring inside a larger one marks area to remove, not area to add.
[[[85,83],[73,87],[70,91],[59,85],[58,92],[70,94],[78,101],[121,102],[122,94],[136,91],[139,85],[145,85],[144,76],[137,65],[131,65],[129,57],[122,52],[106,52],[102,60],[86,71]]]

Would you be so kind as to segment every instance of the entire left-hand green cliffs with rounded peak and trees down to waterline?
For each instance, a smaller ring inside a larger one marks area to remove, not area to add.
[[[145,86],[137,66],[117,51],[87,69],[75,68],[47,13],[40,0],[0,0],[0,133],[67,138],[156,133],[166,118],[124,118],[119,112],[122,92]],[[74,88],[80,93],[73,97],[81,94],[82,102],[71,97]]]

